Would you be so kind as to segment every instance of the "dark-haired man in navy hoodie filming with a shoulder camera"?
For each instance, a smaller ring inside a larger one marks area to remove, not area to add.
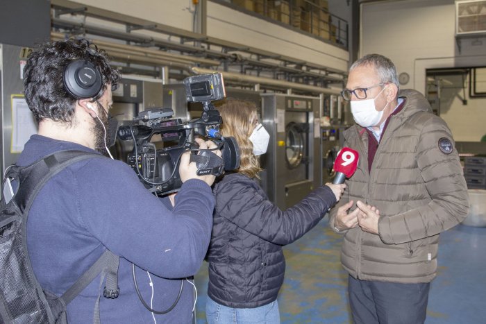
[[[72,80],[65,74],[75,61],[92,64],[99,72],[99,93],[84,99],[72,93]],[[35,49],[24,69],[24,87],[39,133],[28,140],[17,164],[28,165],[62,150],[108,151],[108,110],[119,78],[106,54],[86,40]],[[201,148],[216,147],[198,143]],[[171,211],[149,194],[133,169],[108,157],[76,162],[49,180],[31,207],[26,229],[28,255],[42,288],[62,295],[108,249],[120,257],[120,291],[116,299],[101,296],[101,323],[190,323],[194,290],[188,280],[176,279],[194,275],[206,254],[215,178],[196,176],[189,153],[182,155],[179,171],[183,185]],[[160,311],[176,302],[174,309],[157,315],[142,305],[132,264],[144,300]],[[92,323],[99,295],[100,276],[67,305],[68,322]]]

